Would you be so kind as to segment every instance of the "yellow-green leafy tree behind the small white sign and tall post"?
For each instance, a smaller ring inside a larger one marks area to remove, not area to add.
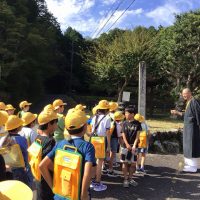
[[[93,71],[95,82],[106,84],[107,91],[117,91],[121,101],[124,88],[137,79],[139,61],[147,59],[148,47],[156,32],[144,27],[119,32],[110,43],[101,37],[96,40],[86,53],[86,63]]]

